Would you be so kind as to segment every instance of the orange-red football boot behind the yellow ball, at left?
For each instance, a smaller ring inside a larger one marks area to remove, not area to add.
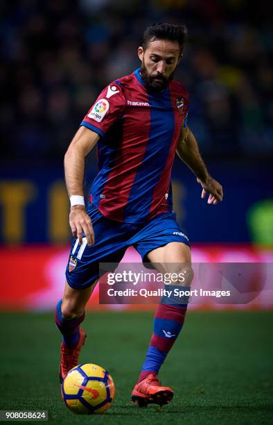
[[[70,369],[79,364],[79,356],[82,345],[85,344],[87,335],[85,331],[80,328],[80,338],[76,347],[67,347],[64,343],[61,345],[61,360],[60,360],[60,383],[67,376]]]

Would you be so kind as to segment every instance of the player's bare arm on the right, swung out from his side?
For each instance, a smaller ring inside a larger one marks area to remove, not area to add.
[[[212,178],[201,158],[197,141],[188,127],[182,128],[181,138],[177,145],[177,154],[197,177],[197,182],[202,185],[201,197],[204,199],[209,193],[208,203],[215,205],[222,201],[222,186]]]

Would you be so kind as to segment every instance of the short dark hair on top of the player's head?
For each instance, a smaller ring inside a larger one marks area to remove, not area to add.
[[[188,29],[185,25],[157,23],[148,26],[143,33],[142,47],[145,50],[148,42],[155,40],[177,41],[182,51],[188,38]]]

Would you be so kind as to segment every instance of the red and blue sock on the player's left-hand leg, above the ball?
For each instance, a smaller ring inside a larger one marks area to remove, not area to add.
[[[58,301],[55,310],[55,323],[60,333],[62,333],[62,342],[67,345],[67,347],[74,347],[78,344],[80,338],[80,324],[85,319],[85,312],[76,317],[76,319],[64,319],[62,317],[62,299]]]

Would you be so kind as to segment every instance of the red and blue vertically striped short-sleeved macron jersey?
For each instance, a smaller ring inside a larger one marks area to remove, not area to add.
[[[81,123],[100,135],[89,199],[105,217],[127,223],[172,210],[170,177],[188,111],[181,83],[151,94],[139,71],[107,86]]]

